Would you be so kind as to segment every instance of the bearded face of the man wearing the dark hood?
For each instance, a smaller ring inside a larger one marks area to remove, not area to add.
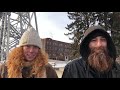
[[[102,36],[93,38],[89,43],[90,55],[88,63],[97,71],[103,72],[111,68],[112,59],[107,51],[107,40]]]

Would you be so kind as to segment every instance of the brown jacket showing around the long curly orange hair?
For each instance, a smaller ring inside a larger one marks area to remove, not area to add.
[[[47,76],[46,78],[58,78],[57,73],[55,72],[54,68],[50,64],[47,64],[45,66],[45,69],[46,69],[46,76]],[[23,68],[22,71],[23,71],[22,74],[24,76],[23,78],[27,78],[27,76],[29,76],[29,74],[27,73],[29,73],[30,67],[25,67]],[[8,78],[6,64],[2,64],[0,66],[0,78]],[[30,77],[30,78],[35,78],[35,76]]]

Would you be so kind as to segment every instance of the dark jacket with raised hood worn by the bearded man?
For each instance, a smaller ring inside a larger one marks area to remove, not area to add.
[[[107,40],[107,50],[114,63],[112,69],[107,73],[97,72],[89,67],[87,58],[90,54],[88,48],[89,42],[96,35],[102,35]],[[101,26],[90,27],[84,34],[80,44],[81,58],[68,63],[62,75],[62,78],[120,78],[120,65],[116,60],[116,49],[110,35]]]

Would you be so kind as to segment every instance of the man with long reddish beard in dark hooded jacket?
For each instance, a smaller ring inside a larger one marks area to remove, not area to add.
[[[80,44],[81,58],[65,66],[62,78],[120,78],[111,36],[101,26],[89,27]]]

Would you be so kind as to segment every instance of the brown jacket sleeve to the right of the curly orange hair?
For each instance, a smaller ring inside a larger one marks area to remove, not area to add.
[[[47,78],[58,78],[56,71],[50,64],[46,65],[46,74]]]

